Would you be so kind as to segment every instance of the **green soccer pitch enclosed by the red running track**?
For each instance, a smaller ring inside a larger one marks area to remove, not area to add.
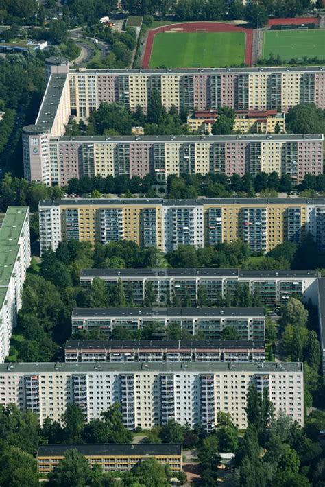
[[[245,61],[244,32],[159,32],[149,67],[226,67]]]

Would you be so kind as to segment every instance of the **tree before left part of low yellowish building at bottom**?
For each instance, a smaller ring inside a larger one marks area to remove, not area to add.
[[[49,473],[50,487],[86,487],[91,482],[91,466],[77,449],[67,449],[64,458]]]

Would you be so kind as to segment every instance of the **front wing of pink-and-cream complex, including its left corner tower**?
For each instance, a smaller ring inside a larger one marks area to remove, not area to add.
[[[23,132],[27,180],[67,185],[71,178],[276,172],[302,182],[322,174],[323,134],[51,136],[42,123]]]

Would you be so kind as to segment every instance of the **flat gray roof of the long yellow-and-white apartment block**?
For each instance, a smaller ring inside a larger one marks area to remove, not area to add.
[[[110,205],[130,205],[136,206],[203,206],[203,205],[263,205],[263,204],[310,204],[325,205],[325,198],[196,198],[196,199],[163,199],[163,198],[64,198],[63,200],[40,200],[39,206],[110,206]]]

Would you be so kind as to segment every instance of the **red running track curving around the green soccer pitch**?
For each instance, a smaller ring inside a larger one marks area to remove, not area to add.
[[[165,32],[171,29],[182,29],[182,32],[196,32],[197,30],[206,30],[207,32],[245,32],[245,64],[252,66],[252,43],[253,30],[243,29],[243,27],[236,27],[235,25],[221,23],[221,22],[190,22],[164,25],[157,29],[149,30],[147,43],[145,44],[145,52],[143,54],[142,65],[144,68],[149,68],[149,60],[152,54],[152,46],[154,45],[154,36],[158,32]]]

